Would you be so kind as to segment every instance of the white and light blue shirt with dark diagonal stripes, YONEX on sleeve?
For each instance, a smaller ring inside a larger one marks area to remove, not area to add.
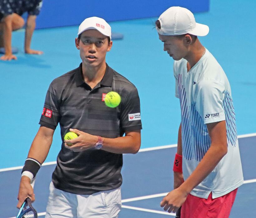
[[[206,124],[226,120],[228,153],[191,194],[223,196],[243,184],[231,89],[225,72],[206,49],[187,72],[187,61],[174,61],[176,97],[181,105],[183,175],[187,179],[211,145]]]

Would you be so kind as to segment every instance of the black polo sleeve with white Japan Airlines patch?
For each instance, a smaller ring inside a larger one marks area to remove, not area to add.
[[[120,122],[123,132],[142,129],[138,90],[134,88],[122,98]]]

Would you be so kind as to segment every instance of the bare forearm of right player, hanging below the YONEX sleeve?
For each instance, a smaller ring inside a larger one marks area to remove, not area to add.
[[[200,184],[207,177],[207,175],[214,170],[225,154],[226,150],[223,149],[223,146],[218,146],[212,143],[196,169],[188,177],[188,179],[181,184],[180,188],[182,188],[187,194],[190,193],[193,188]]]

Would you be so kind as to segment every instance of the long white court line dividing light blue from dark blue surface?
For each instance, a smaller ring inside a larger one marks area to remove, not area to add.
[[[240,138],[253,137],[253,136],[256,136],[256,133],[239,135],[238,138],[240,139]],[[159,150],[159,149],[165,149],[165,148],[176,148],[176,147],[177,147],[177,144],[163,145],[163,146],[157,146],[157,147],[152,147],[152,148],[142,148],[142,149],[139,150],[139,152],[153,151],[153,150]],[[52,164],[56,164],[56,161],[43,163],[42,166],[47,166],[47,165],[52,165]],[[0,172],[9,171],[9,170],[19,170],[19,169],[22,169],[22,168],[23,168],[23,166],[3,168],[3,169],[0,169]]]

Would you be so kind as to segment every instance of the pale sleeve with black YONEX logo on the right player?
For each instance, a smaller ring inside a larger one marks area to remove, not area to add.
[[[198,84],[196,110],[204,123],[225,120],[223,106],[225,87],[218,81],[203,79]]]

